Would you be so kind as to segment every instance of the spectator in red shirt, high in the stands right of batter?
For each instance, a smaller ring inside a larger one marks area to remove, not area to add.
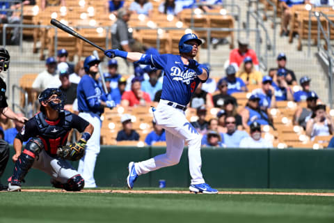
[[[230,64],[235,64],[239,68],[242,61],[244,61],[244,59],[249,56],[253,61],[255,70],[259,70],[259,61],[257,60],[255,51],[253,49],[248,49],[248,39],[240,38],[238,43],[239,48],[232,49],[230,52]]]

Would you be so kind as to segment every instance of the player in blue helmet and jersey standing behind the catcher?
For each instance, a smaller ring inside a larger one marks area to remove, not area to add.
[[[96,74],[99,71],[100,60],[91,55],[84,61],[86,75],[81,78],[77,88],[79,116],[94,126],[94,132],[87,141],[86,153],[79,162],[78,172],[85,180],[85,187],[97,187],[94,179],[94,169],[97,155],[100,153],[101,114],[104,107],[113,108],[115,102],[107,100]]]

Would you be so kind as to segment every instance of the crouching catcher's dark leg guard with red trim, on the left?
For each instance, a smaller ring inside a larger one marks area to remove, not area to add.
[[[31,138],[24,148],[24,151],[19,155],[17,162],[15,162],[15,168],[12,176],[12,185],[20,185],[24,176],[28,173],[29,169],[33,165],[35,157],[38,156],[40,151],[44,148],[44,144],[39,138]]]

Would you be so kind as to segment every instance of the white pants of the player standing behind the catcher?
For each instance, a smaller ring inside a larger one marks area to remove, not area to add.
[[[86,144],[86,153],[79,161],[78,172],[85,180],[86,187],[97,187],[94,169],[97,155],[100,153],[101,118],[93,112],[80,112],[79,116],[94,126],[94,132]]]

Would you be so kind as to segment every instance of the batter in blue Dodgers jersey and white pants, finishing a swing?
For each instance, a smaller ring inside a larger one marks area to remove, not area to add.
[[[200,168],[200,134],[186,120],[186,105],[191,99],[200,82],[205,82],[209,77],[207,67],[195,61],[193,58],[198,52],[202,41],[193,33],[182,36],[179,43],[180,55],[162,54],[150,55],[138,52],[124,52],[118,49],[109,49],[104,54],[109,57],[120,56],[128,61],[147,64],[154,68],[164,70],[164,82],[161,99],[153,114],[157,125],[166,130],[167,149],[165,154],[157,155],[143,162],[129,163],[129,176],[127,185],[129,189],[134,187],[134,181],[141,174],[173,166],[180,162],[184,148],[184,141],[189,145],[189,170],[191,174],[191,192],[216,194],[202,177]]]

